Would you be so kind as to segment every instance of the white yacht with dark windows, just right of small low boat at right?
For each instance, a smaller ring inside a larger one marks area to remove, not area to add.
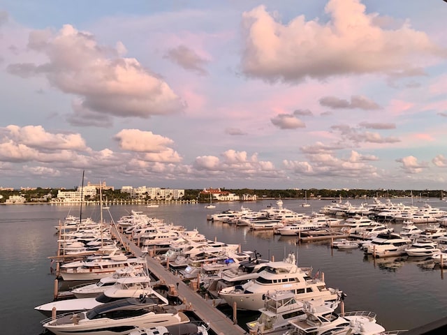
[[[411,246],[411,239],[402,237],[400,234],[379,234],[372,239],[371,243],[363,244],[365,253],[375,257],[388,257],[404,255],[405,249]]]

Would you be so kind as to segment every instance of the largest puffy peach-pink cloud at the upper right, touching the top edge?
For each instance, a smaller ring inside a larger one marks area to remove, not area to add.
[[[382,27],[378,13],[366,13],[359,0],[330,0],[329,20],[304,15],[283,24],[258,6],[242,15],[242,71],[268,82],[323,80],[333,75],[414,74],[427,59],[446,57],[423,31]]]

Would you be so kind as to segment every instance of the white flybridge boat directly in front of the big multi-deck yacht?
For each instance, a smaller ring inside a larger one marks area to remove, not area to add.
[[[328,306],[332,311],[337,308],[339,301],[332,301],[325,304],[324,301],[314,300],[309,301],[312,308],[320,308],[320,306]],[[295,294],[292,292],[278,292],[269,295],[265,298],[264,307],[259,311],[261,315],[251,322],[247,322],[247,327],[251,332],[256,334],[281,335],[288,329],[291,329],[291,324],[288,322],[296,318],[306,318],[306,304],[295,299]]]

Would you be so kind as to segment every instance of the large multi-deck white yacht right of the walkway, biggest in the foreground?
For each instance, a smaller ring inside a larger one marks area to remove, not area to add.
[[[294,255],[291,257],[294,259]],[[293,262],[270,262],[268,267],[259,273],[258,278],[243,285],[235,285],[223,288],[219,297],[233,306],[237,302],[237,308],[258,311],[263,308],[263,298],[269,293],[291,291],[298,300],[323,299],[334,301],[338,299],[338,290],[326,288],[323,278],[312,277],[312,268],[298,267]]]

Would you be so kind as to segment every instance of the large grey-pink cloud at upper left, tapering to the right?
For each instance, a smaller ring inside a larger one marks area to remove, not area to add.
[[[67,24],[57,34],[32,31],[28,46],[45,54],[48,62],[10,64],[9,73],[44,75],[52,87],[77,96],[84,112],[75,109],[72,124],[97,120],[94,114],[148,118],[185,107],[166,82],[136,59],[119,57],[124,52],[122,43],[117,43],[117,49],[98,45],[93,35]]]

